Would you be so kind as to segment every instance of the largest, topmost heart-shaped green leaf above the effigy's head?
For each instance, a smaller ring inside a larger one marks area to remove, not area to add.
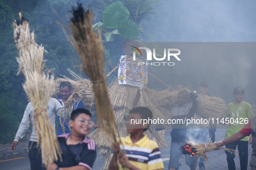
[[[105,27],[116,28],[120,25],[121,20],[128,19],[129,16],[128,9],[123,6],[123,3],[117,1],[107,6],[103,12],[102,20]]]

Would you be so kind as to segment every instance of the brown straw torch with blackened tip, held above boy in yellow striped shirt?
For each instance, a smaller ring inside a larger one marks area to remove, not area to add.
[[[93,31],[92,22],[93,14],[89,10],[84,12],[82,4],[78,4],[77,9],[73,8],[73,18],[70,19],[71,44],[82,61],[83,72],[93,82],[97,121],[112,139],[116,139],[114,113],[104,74],[104,49],[100,32]]]

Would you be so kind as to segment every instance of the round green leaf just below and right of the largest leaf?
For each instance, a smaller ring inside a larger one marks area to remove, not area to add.
[[[120,21],[120,26],[117,27],[117,31],[124,38],[133,39],[139,37],[139,27],[130,19],[123,19]]]

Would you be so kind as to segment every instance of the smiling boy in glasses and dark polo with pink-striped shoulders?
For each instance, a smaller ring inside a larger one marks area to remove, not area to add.
[[[62,149],[62,162],[48,164],[47,170],[92,170],[96,158],[95,143],[86,135],[94,122],[86,109],[73,110],[69,120],[70,134],[58,135]]]

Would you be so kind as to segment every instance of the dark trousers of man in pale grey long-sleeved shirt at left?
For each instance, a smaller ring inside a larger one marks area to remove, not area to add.
[[[29,141],[29,161],[31,170],[42,170],[41,152],[36,148],[37,142]]]

